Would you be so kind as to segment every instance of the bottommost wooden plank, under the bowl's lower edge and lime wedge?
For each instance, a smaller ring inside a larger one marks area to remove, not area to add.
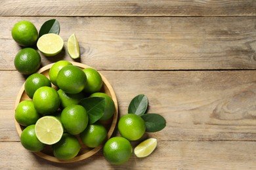
[[[135,144],[133,144],[134,146]],[[77,163],[52,163],[25,150],[20,143],[0,142],[1,169],[255,169],[255,142],[158,141],[147,158],[110,165],[102,150]],[[12,163],[10,163],[12,162]]]

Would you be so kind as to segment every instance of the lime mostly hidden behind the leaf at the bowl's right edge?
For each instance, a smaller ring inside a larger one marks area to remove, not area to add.
[[[90,97],[105,97],[105,110],[103,116],[100,118],[100,120],[109,120],[114,115],[114,112],[116,111],[115,103],[112,100],[112,98],[107,95],[106,93],[102,92],[96,92],[92,93]]]

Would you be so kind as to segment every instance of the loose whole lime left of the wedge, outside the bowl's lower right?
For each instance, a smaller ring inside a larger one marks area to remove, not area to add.
[[[127,162],[132,153],[131,143],[123,137],[112,137],[106,141],[103,147],[105,159],[114,165]]]

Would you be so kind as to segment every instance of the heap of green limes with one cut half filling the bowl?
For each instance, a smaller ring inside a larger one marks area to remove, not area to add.
[[[112,98],[103,93],[102,77],[91,67],[81,69],[69,61],[57,61],[49,70],[49,78],[33,73],[24,83],[31,99],[21,101],[15,119],[24,127],[20,135],[22,145],[39,152],[52,145],[53,155],[59,160],[77,156],[82,143],[95,148],[104,143],[107,129],[101,122],[110,120],[116,107]],[[85,97],[104,97],[104,114],[89,124],[87,110],[79,105]]]

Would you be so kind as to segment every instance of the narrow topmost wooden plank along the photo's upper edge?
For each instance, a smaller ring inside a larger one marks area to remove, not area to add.
[[[1,16],[255,16],[255,1],[2,1]]]

